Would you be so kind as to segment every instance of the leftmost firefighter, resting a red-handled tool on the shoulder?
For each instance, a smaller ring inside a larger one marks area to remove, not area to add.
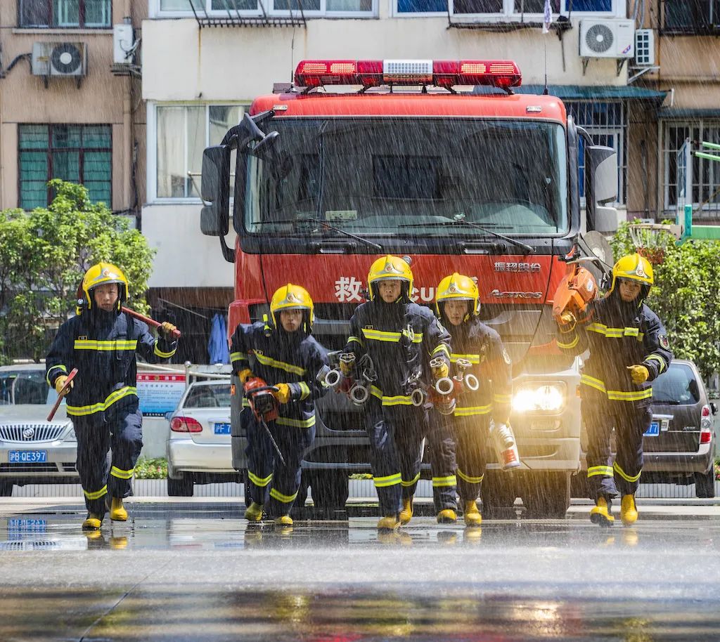
[[[92,266],[78,290],[76,316],[60,326],[45,357],[48,383],[58,393],[68,373],[78,369],[67,393],[67,412],[78,439],[77,469],[88,510],[85,531],[98,530],[107,510],[113,521],[127,520],[122,500],[131,493],[143,446],[135,352],[158,363],[177,349],[175,326],[163,323],[156,339],[147,325],[121,311],[127,297],[127,278],[119,267]]]

